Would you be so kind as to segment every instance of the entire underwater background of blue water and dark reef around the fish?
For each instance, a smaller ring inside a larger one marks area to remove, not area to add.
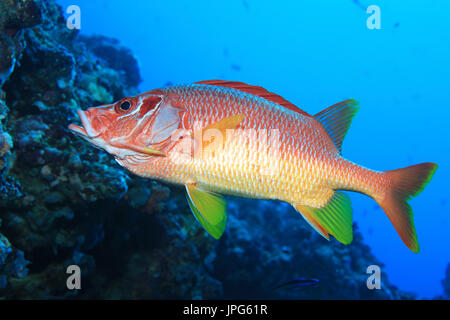
[[[73,4],[81,30],[66,27]],[[369,5],[381,29],[366,25]],[[0,2],[0,297],[448,299],[448,12],[445,0]],[[348,246],[290,205],[238,198],[216,241],[182,188],[131,176],[67,130],[77,108],[208,79],[311,114],[356,99],[344,157],[376,170],[437,163],[410,202],[420,253],[352,193]],[[72,264],[79,291],[66,287]],[[373,264],[381,290],[366,287]],[[298,277],[320,282],[272,290]]]

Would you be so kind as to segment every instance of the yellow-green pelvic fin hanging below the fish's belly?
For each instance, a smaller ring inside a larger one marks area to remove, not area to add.
[[[226,201],[222,196],[186,185],[187,200],[195,218],[215,239],[225,231],[227,223]]]

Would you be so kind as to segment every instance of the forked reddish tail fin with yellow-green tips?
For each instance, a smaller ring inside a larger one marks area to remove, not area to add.
[[[389,186],[385,197],[379,201],[395,230],[406,246],[413,252],[419,252],[413,212],[408,200],[417,196],[430,182],[437,169],[435,163],[421,163],[414,166],[386,171]]]

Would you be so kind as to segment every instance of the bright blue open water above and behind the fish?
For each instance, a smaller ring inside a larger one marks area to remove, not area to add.
[[[421,252],[410,252],[368,197],[352,194],[365,241],[403,290],[431,298],[450,262],[450,2],[60,0],[81,32],[117,38],[138,57],[142,91],[227,79],[266,87],[309,113],[354,98],[348,159],[388,170],[439,164],[411,204]],[[381,9],[369,30],[366,8]]]

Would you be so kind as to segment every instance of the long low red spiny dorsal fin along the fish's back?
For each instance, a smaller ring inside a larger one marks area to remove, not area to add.
[[[299,107],[297,107],[295,104],[290,103],[289,101],[287,101],[286,99],[284,99],[283,97],[273,93],[273,92],[269,92],[266,89],[264,89],[263,87],[258,87],[258,86],[251,86],[249,84],[246,84],[244,82],[237,82],[237,81],[224,81],[224,80],[205,80],[205,81],[199,81],[199,82],[195,82],[196,84],[207,84],[207,85],[211,85],[211,86],[218,86],[218,87],[226,87],[226,88],[232,88],[232,89],[236,89],[236,90],[240,90],[246,93],[250,93],[253,94],[255,96],[264,98],[266,100],[269,100],[271,102],[274,102],[276,104],[279,104],[289,110],[301,113],[305,116],[311,117],[310,114],[306,113],[305,111],[303,111],[302,109],[300,109]]]

